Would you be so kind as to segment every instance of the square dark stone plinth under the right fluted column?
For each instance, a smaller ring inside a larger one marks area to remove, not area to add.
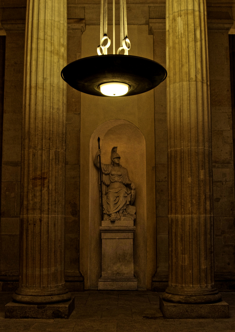
[[[162,296],[159,301],[164,318],[229,318],[229,305],[225,301],[203,304],[172,303],[164,301]]]

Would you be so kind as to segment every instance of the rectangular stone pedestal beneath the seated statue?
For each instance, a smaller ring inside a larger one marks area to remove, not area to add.
[[[103,220],[102,275],[99,290],[137,290],[134,277],[133,236],[134,221],[122,217],[117,221]]]

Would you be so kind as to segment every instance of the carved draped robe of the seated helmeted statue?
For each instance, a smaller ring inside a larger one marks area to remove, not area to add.
[[[114,217],[120,219],[120,213],[127,214],[126,207],[131,200],[131,190],[125,185],[130,183],[125,167],[114,167],[101,163],[104,220]]]

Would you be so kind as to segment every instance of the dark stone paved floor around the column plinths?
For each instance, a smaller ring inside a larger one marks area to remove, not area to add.
[[[234,332],[235,292],[222,293],[230,304],[228,319],[164,319],[159,295],[151,291],[76,292],[69,319],[5,319],[10,292],[0,292],[0,332]]]

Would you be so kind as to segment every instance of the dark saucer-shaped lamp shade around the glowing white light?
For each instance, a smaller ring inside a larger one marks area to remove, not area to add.
[[[156,61],[133,55],[96,55],[73,61],[61,70],[62,79],[74,89],[100,97],[99,86],[109,82],[129,85],[124,96],[149,91],[167,77],[166,69]],[[113,98],[113,97],[111,97]]]

